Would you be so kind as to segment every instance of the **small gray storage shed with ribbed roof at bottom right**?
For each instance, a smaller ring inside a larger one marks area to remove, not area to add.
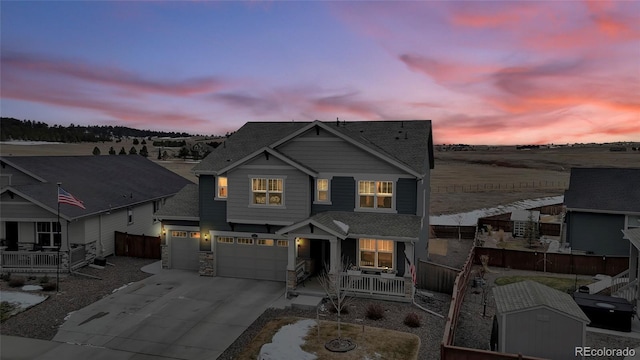
[[[495,287],[493,295],[497,351],[573,359],[576,346],[585,346],[589,318],[571,295],[530,280]]]

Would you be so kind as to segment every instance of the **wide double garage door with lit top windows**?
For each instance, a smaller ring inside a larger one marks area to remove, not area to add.
[[[231,242],[231,239],[216,243],[218,276],[286,280],[286,242],[266,239],[233,239]]]

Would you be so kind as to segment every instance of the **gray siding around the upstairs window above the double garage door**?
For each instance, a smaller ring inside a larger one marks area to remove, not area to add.
[[[264,166],[264,155],[257,158],[260,168],[253,168],[251,162],[229,171],[227,174],[229,198],[227,199],[227,220],[238,222],[287,223],[304,220],[309,216],[311,195],[308,175],[298,169],[288,167],[273,156],[269,157],[269,165]],[[284,177],[284,206],[251,205],[251,177],[280,178]]]

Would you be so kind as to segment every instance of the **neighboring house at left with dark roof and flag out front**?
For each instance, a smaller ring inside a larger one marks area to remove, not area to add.
[[[191,183],[137,155],[0,157],[0,166],[5,271],[55,268],[43,254],[58,249],[65,266],[112,255],[115,231],[158,236],[154,212]],[[58,204],[58,183],[85,209]]]

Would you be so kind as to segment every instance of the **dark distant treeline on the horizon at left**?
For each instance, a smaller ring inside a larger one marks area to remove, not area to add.
[[[138,130],[124,126],[49,126],[43,122],[0,118],[0,141],[55,141],[63,143],[111,141],[123,137],[188,137],[187,133]]]

